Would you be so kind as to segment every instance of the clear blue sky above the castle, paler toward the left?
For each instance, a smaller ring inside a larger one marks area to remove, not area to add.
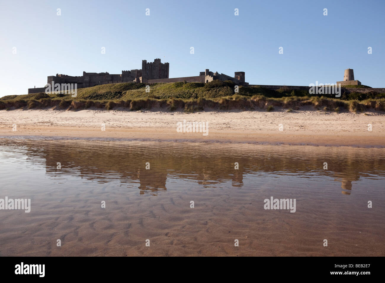
[[[351,68],[385,87],[383,0],[0,3],[0,97],[44,87],[48,75],[121,74],[155,58],[170,77],[238,70],[250,84],[332,84]]]

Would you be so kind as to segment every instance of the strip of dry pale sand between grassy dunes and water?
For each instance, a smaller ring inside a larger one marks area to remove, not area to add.
[[[0,111],[0,136],[127,139],[148,141],[242,142],[319,146],[385,146],[385,115],[380,112],[301,111]],[[176,123],[207,121],[208,135],[178,133]],[[12,125],[17,131],[12,131]],[[105,131],[101,131],[105,124]],[[279,131],[279,125],[283,131]],[[372,124],[372,131],[368,131]]]

